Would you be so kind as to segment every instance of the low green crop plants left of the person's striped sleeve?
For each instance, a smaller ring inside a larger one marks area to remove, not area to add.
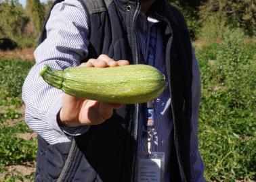
[[[7,166],[35,161],[36,139],[22,138],[33,133],[24,123],[21,100],[22,84],[32,65],[31,62],[0,57],[0,181],[23,181],[33,175],[24,177],[14,170],[7,171]]]

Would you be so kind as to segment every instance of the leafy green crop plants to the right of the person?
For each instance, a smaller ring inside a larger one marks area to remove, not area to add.
[[[202,76],[199,139],[208,181],[256,179],[256,43],[239,31],[196,51]]]

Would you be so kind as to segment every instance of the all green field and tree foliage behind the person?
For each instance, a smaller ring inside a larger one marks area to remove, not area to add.
[[[256,181],[255,0],[170,2],[184,13],[200,64],[198,136],[205,177]],[[21,91],[34,63],[5,55],[35,49],[51,4],[0,1],[0,181],[33,181],[37,140],[24,123]],[[33,170],[25,174],[17,166]]]

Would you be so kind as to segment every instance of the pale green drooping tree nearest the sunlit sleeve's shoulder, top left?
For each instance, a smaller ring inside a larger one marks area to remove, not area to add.
[[[39,0],[26,0],[26,12],[35,28],[36,34],[39,34],[45,21],[43,5]]]

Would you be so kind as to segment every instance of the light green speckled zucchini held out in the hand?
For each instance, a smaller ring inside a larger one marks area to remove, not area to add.
[[[135,104],[153,100],[165,88],[165,76],[149,65],[117,67],[45,66],[40,75],[47,84],[77,98],[109,103]]]

